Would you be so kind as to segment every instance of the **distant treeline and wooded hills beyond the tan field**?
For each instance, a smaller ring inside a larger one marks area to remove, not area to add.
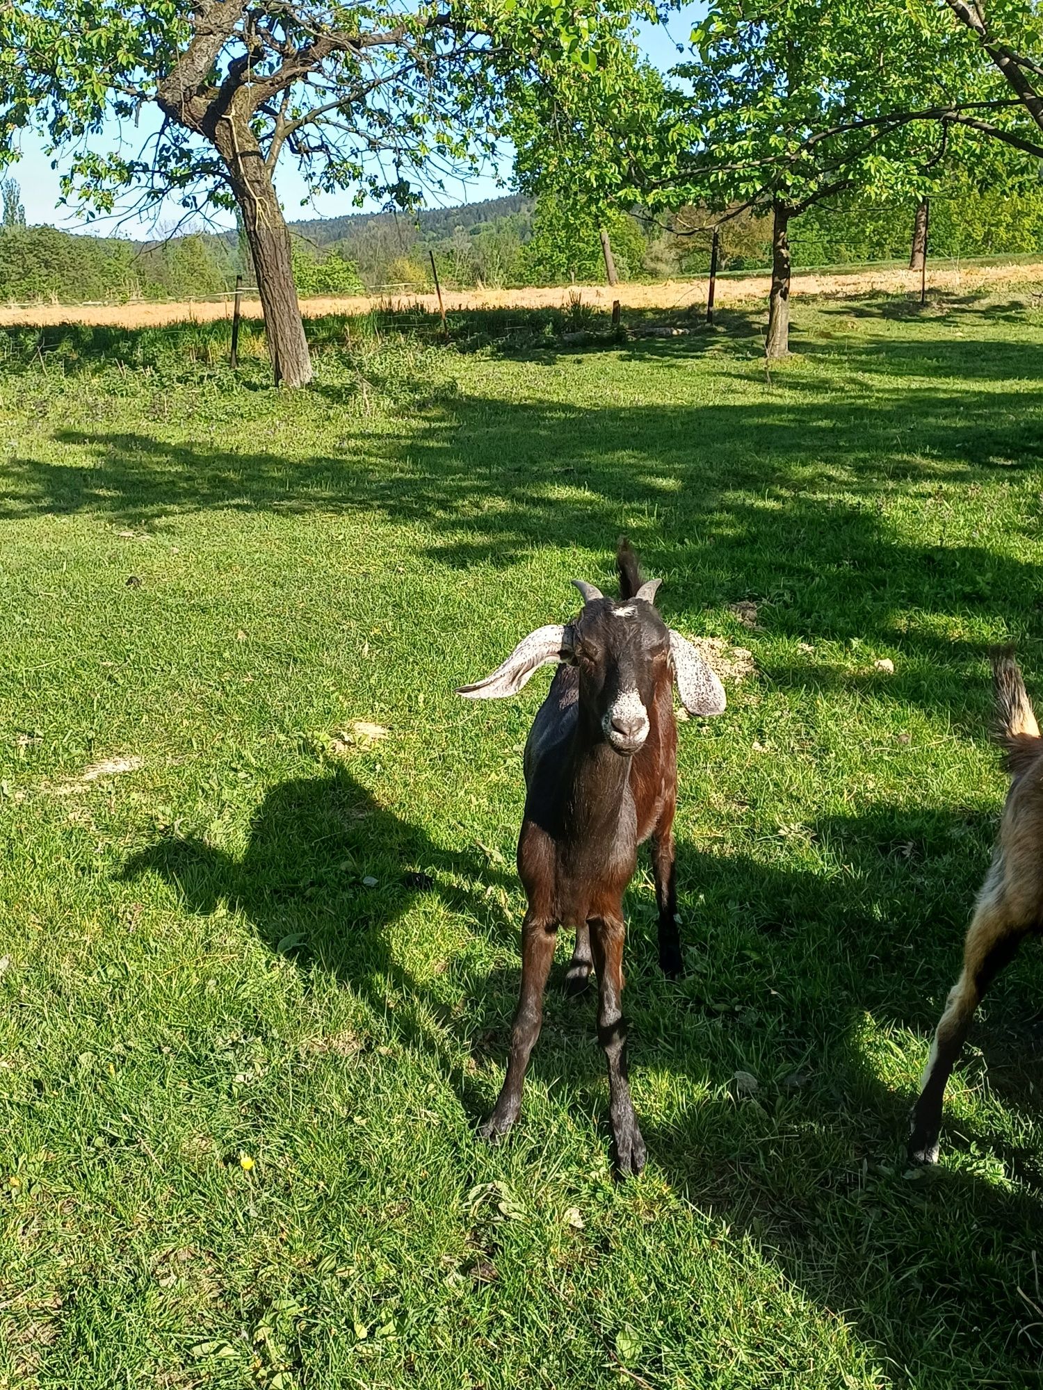
[[[192,232],[131,242],[26,227],[17,185],[3,185],[0,300],[32,302],[191,299],[253,282],[235,232]],[[904,260],[914,206],[819,206],[791,224],[797,268]],[[431,253],[444,286],[502,288],[590,282],[605,277],[599,222],[622,279],[704,274],[715,217],[681,208],[669,225],[612,213],[574,215],[548,197],[499,197],[470,207],[377,213],[296,222],[293,268],[302,295],[349,295],[391,288],[427,289]],[[770,218],[740,217],[720,228],[722,270],[770,264]],[[1043,253],[1043,188],[976,193],[954,185],[930,204],[933,257]]]

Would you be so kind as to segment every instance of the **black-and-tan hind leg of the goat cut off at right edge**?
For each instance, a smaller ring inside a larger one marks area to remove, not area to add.
[[[911,1163],[936,1163],[946,1083],[967,1040],[975,1009],[996,976],[1008,965],[1029,930],[1004,903],[1003,895],[983,897],[964,944],[964,969],[953,986],[939,1020],[930,1056],[912,1106],[908,1156]]]

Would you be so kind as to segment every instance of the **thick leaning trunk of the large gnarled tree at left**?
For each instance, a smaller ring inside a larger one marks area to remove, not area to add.
[[[275,384],[306,386],[312,379],[312,357],[293,284],[289,229],[271,175],[246,122],[232,125],[228,118],[220,120],[214,143],[228,170],[250,245]]]

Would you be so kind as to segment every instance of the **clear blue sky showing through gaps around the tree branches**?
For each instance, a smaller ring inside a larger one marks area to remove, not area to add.
[[[681,13],[672,17],[666,28],[659,25],[642,26],[640,36],[641,47],[651,61],[656,64],[656,67],[665,70],[680,61],[676,46],[677,43],[684,43],[687,40],[691,28],[691,15],[701,8],[702,6],[686,6]],[[153,113],[149,113],[149,115],[152,114]],[[135,142],[143,142],[152,129],[154,129],[154,124],[150,124],[143,113],[140,128],[134,132]],[[111,149],[114,133],[114,131],[106,132],[104,138],[99,138],[96,142],[97,149]],[[10,177],[17,178],[21,185],[25,217],[31,225],[50,222],[56,227],[65,227],[71,231],[82,229],[89,225],[90,231],[108,235],[152,236],[157,232],[167,234],[177,222],[179,213],[175,207],[170,207],[164,208],[157,220],[153,220],[150,215],[146,222],[131,218],[124,221],[121,227],[117,228],[113,220],[99,218],[93,224],[86,224],[85,220],[78,217],[75,211],[58,207],[58,200],[61,197],[61,189],[58,186],[61,168],[51,168],[50,157],[45,154],[43,147],[43,140],[31,132],[24,132],[19,138],[21,157],[14,168],[8,171]],[[505,181],[509,179],[509,158],[502,161],[499,177]],[[345,189],[343,192],[335,195],[323,195],[321,197],[313,199],[306,207],[302,207],[300,200],[305,196],[305,185],[296,174],[292,161],[285,161],[282,164],[277,172],[275,183],[286,210],[286,217],[291,221],[303,217],[338,217],[343,213],[356,211],[352,206],[350,189]],[[469,179],[466,183],[460,181],[456,181],[455,183],[446,182],[445,193],[439,195],[437,200],[431,196],[428,197],[428,202],[437,202],[439,206],[449,207],[455,203],[477,203],[485,197],[498,197],[505,192],[509,192],[509,188],[499,186],[494,171],[490,170],[483,177]]]

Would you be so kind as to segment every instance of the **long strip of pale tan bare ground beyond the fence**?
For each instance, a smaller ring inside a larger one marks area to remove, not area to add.
[[[1018,265],[969,265],[961,270],[928,270],[930,291],[973,291],[989,285],[1011,281],[1043,279],[1043,263]],[[718,279],[716,303],[740,304],[748,300],[768,297],[770,281],[768,275],[744,275]],[[919,271],[896,267],[852,270],[843,275],[826,275],[805,271],[793,277],[791,293],[832,295],[844,297],[871,293],[914,293],[919,291]],[[706,281],[668,279],[658,285],[555,285],[548,289],[476,289],[444,291],[446,310],[460,309],[562,309],[569,300],[581,297],[584,304],[609,310],[617,299],[624,309],[687,309],[706,302]],[[434,295],[371,295],[317,297],[302,300],[302,311],[307,318],[323,314],[367,314],[373,309],[424,309],[430,314],[438,311]],[[49,324],[95,324],[120,328],[149,328],[160,324],[211,322],[217,318],[231,318],[231,296],[220,302],[189,300],[188,303],[165,304],[35,304],[0,306],[0,327]],[[242,313],[248,318],[260,318],[259,299],[243,299]]]

